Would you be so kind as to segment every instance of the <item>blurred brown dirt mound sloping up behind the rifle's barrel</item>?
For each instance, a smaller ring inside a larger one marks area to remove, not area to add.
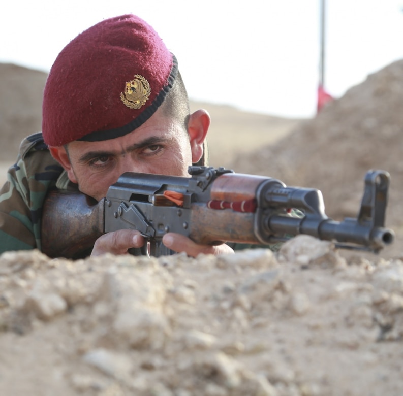
[[[334,217],[356,216],[365,173],[386,170],[392,178],[388,219],[401,226],[402,81],[403,60],[368,76],[279,142],[238,156],[232,168],[318,188]]]

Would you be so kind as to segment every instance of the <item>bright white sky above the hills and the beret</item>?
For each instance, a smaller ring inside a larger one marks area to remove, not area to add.
[[[316,113],[321,0],[30,0],[0,15],[0,62],[49,72],[81,31],[137,14],[176,55],[193,100],[281,117]],[[403,58],[403,0],[327,0],[324,87],[342,97]]]

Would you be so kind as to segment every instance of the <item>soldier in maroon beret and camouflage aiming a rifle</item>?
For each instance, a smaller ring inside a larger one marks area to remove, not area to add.
[[[27,137],[0,191],[0,253],[41,249],[42,206],[50,189],[96,200],[124,172],[189,176],[204,163],[210,117],[190,113],[175,56],[134,15],[103,20],[57,56],[43,98],[42,133]],[[91,255],[125,254],[145,243],[137,230],[100,237]],[[163,243],[191,256],[232,252],[168,233]]]

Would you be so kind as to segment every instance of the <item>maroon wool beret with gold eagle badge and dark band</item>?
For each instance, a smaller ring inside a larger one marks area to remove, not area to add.
[[[57,56],[45,85],[42,133],[49,146],[126,135],[163,103],[176,58],[135,15],[83,31]]]

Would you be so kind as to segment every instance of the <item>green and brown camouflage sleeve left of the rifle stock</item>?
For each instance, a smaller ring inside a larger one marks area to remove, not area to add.
[[[41,215],[46,193],[63,168],[37,133],[24,139],[16,163],[0,190],[0,254],[41,249]]]

